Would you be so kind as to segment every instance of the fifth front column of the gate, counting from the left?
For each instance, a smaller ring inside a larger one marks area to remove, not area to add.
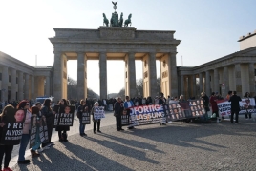
[[[157,92],[157,68],[156,53],[148,53],[148,69],[149,69],[149,96],[154,98]]]

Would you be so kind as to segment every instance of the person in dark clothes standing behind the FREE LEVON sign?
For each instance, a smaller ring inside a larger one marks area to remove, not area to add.
[[[61,113],[65,113],[65,108],[68,106],[68,102],[66,99],[61,99],[58,103],[59,108],[58,108],[58,114],[60,115]],[[70,130],[70,126],[56,126],[56,131],[58,131],[58,138],[59,142],[69,142],[67,140],[67,131]]]

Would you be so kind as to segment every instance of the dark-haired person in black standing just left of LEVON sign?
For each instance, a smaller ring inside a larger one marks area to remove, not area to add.
[[[54,114],[55,111],[51,108],[51,100],[45,99],[43,107],[41,108],[41,113],[46,117],[46,124],[47,124],[47,132],[48,132],[48,142],[42,143],[42,147],[44,149],[49,149],[51,145],[54,143],[51,142],[52,139],[52,133],[53,133],[53,122],[54,122]]]

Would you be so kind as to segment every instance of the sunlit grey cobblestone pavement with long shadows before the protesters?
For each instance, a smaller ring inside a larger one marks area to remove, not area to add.
[[[168,123],[138,126],[118,132],[115,125],[102,133],[87,131],[69,142],[55,142],[30,165],[15,165],[15,171],[32,170],[255,170],[256,123],[241,119],[195,124]]]

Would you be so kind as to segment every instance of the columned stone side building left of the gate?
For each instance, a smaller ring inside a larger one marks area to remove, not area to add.
[[[30,66],[0,51],[0,101],[53,95],[53,66]]]

